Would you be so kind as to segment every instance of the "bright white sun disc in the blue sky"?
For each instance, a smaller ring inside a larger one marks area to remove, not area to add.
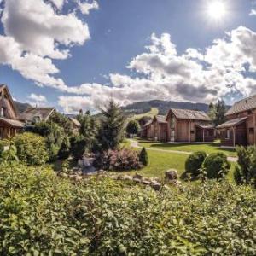
[[[207,5],[207,15],[211,20],[221,21],[224,20],[227,14],[227,6],[224,1],[212,0]]]

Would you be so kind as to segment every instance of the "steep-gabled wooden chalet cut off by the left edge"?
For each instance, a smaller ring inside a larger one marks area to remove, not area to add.
[[[0,138],[14,137],[24,125],[18,119],[18,111],[7,85],[0,85]]]

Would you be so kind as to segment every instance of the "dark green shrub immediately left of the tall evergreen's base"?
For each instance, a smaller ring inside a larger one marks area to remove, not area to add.
[[[78,136],[71,137],[70,143],[71,143],[70,152],[73,155],[73,158],[75,160],[81,159],[88,146],[84,136],[78,135]]]

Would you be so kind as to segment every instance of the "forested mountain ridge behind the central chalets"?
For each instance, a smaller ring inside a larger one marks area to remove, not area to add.
[[[191,103],[191,102],[167,102],[154,100],[149,102],[136,102],[123,107],[126,114],[143,114],[151,111],[152,108],[157,108],[159,114],[165,115],[170,108],[181,108],[199,110],[208,112],[208,105],[205,103]]]

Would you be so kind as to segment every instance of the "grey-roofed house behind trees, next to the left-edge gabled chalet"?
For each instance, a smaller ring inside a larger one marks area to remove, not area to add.
[[[27,108],[20,113],[19,119],[26,125],[34,125],[40,121],[47,121],[53,113],[55,113],[55,108]]]

